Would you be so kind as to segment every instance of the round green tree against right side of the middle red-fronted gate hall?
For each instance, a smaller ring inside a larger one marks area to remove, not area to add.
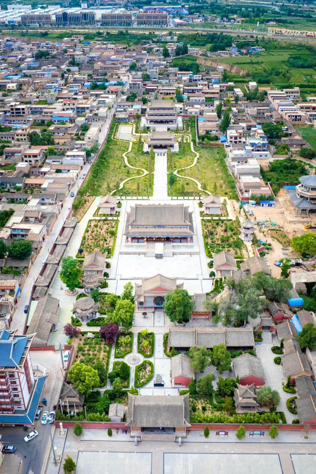
[[[194,302],[187,290],[176,288],[172,293],[168,293],[164,302],[164,310],[171,322],[182,322],[189,319]]]

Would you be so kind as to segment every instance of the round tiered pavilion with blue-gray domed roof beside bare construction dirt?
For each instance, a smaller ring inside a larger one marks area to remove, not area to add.
[[[293,202],[296,214],[306,214],[316,211],[316,174],[308,174],[299,178],[300,184],[296,189],[287,189],[288,196]]]

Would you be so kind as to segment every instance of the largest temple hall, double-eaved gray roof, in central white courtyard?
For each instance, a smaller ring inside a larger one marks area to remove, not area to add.
[[[135,204],[127,212],[127,244],[169,241],[193,244],[192,212],[183,204]]]

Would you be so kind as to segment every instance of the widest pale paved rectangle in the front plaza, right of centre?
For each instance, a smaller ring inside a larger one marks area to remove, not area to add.
[[[278,454],[164,453],[163,474],[195,474],[197,469],[208,474],[282,474]]]

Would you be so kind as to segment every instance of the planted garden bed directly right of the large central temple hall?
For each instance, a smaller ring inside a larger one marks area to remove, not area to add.
[[[212,258],[211,252],[218,254],[225,250],[225,252],[234,255],[235,257],[248,258],[247,249],[242,239],[238,236],[240,234],[239,219],[202,219],[202,230],[204,236],[205,253]]]

